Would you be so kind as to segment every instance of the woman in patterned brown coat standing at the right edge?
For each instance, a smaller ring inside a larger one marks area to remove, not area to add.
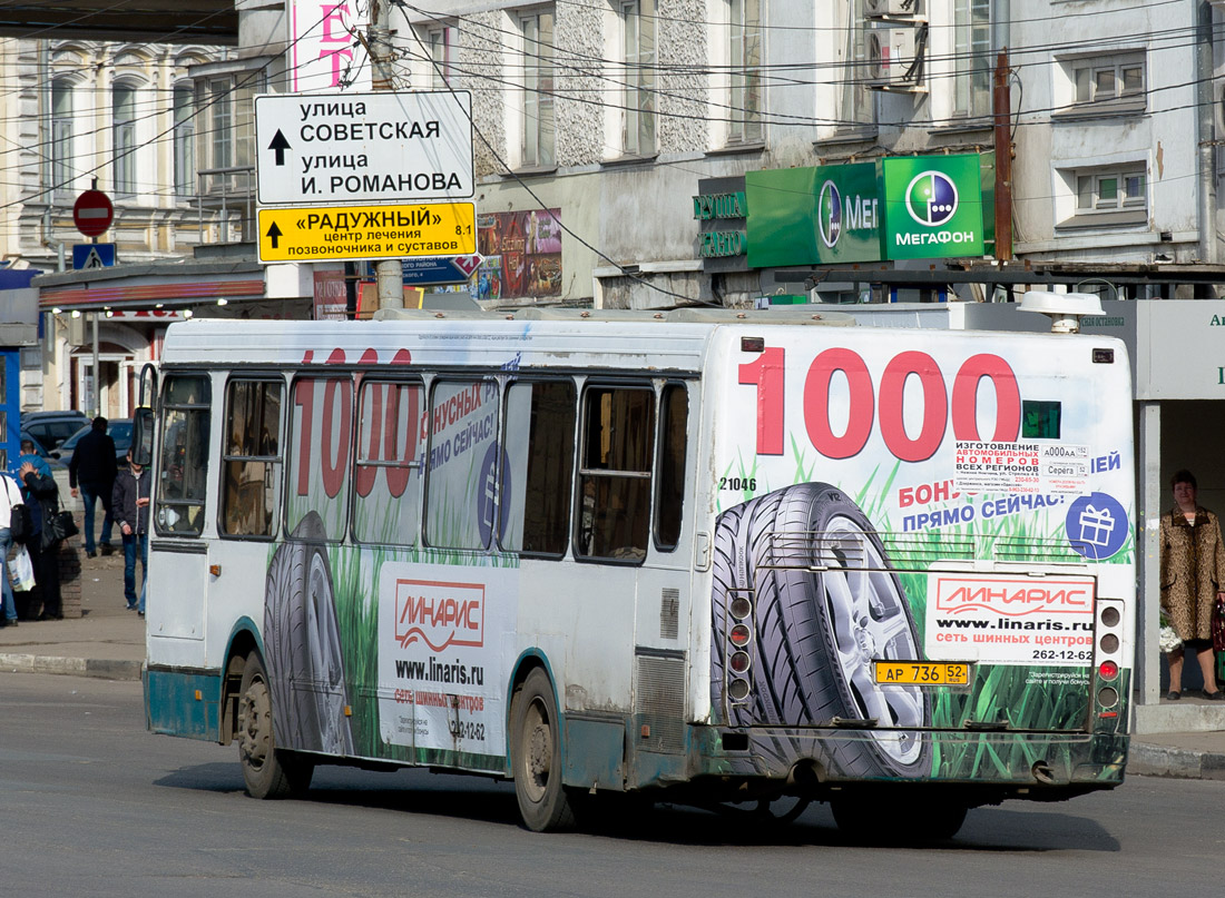
[[[1225,700],[1216,685],[1213,606],[1225,599],[1225,543],[1216,515],[1196,502],[1196,477],[1182,470],[1170,480],[1175,505],[1161,515],[1161,607],[1182,645],[1170,661],[1171,701],[1182,697],[1183,650],[1196,652],[1204,673],[1204,697]]]

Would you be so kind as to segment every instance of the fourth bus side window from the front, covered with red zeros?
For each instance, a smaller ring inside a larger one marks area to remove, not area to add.
[[[368,377],[359,399],[353,538],[413,546],[421,518],[424,390]]]

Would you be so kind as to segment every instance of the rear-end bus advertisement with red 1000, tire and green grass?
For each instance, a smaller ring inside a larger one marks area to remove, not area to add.
[[[831,777],[1072,777],[1082,734],[1126,733],[1129,662],[1094,663],[1105,610],[1131,639],[1126,366],[1041,336],[839,336],[767,333],[728,366],[717,719],[780,727],[753,737],[778,770],[816,743]],[[984,751],[974,729],[1031,735]]]

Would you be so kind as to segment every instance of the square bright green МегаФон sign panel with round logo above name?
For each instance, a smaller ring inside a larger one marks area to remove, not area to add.
[[[884,159],[884,254],[891,259],[981,256],[979,157]]]

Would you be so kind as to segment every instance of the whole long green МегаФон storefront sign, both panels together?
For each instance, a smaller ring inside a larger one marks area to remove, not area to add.
[[[981,256],[981,179],[976,154],[750,171],[748,265]]]

